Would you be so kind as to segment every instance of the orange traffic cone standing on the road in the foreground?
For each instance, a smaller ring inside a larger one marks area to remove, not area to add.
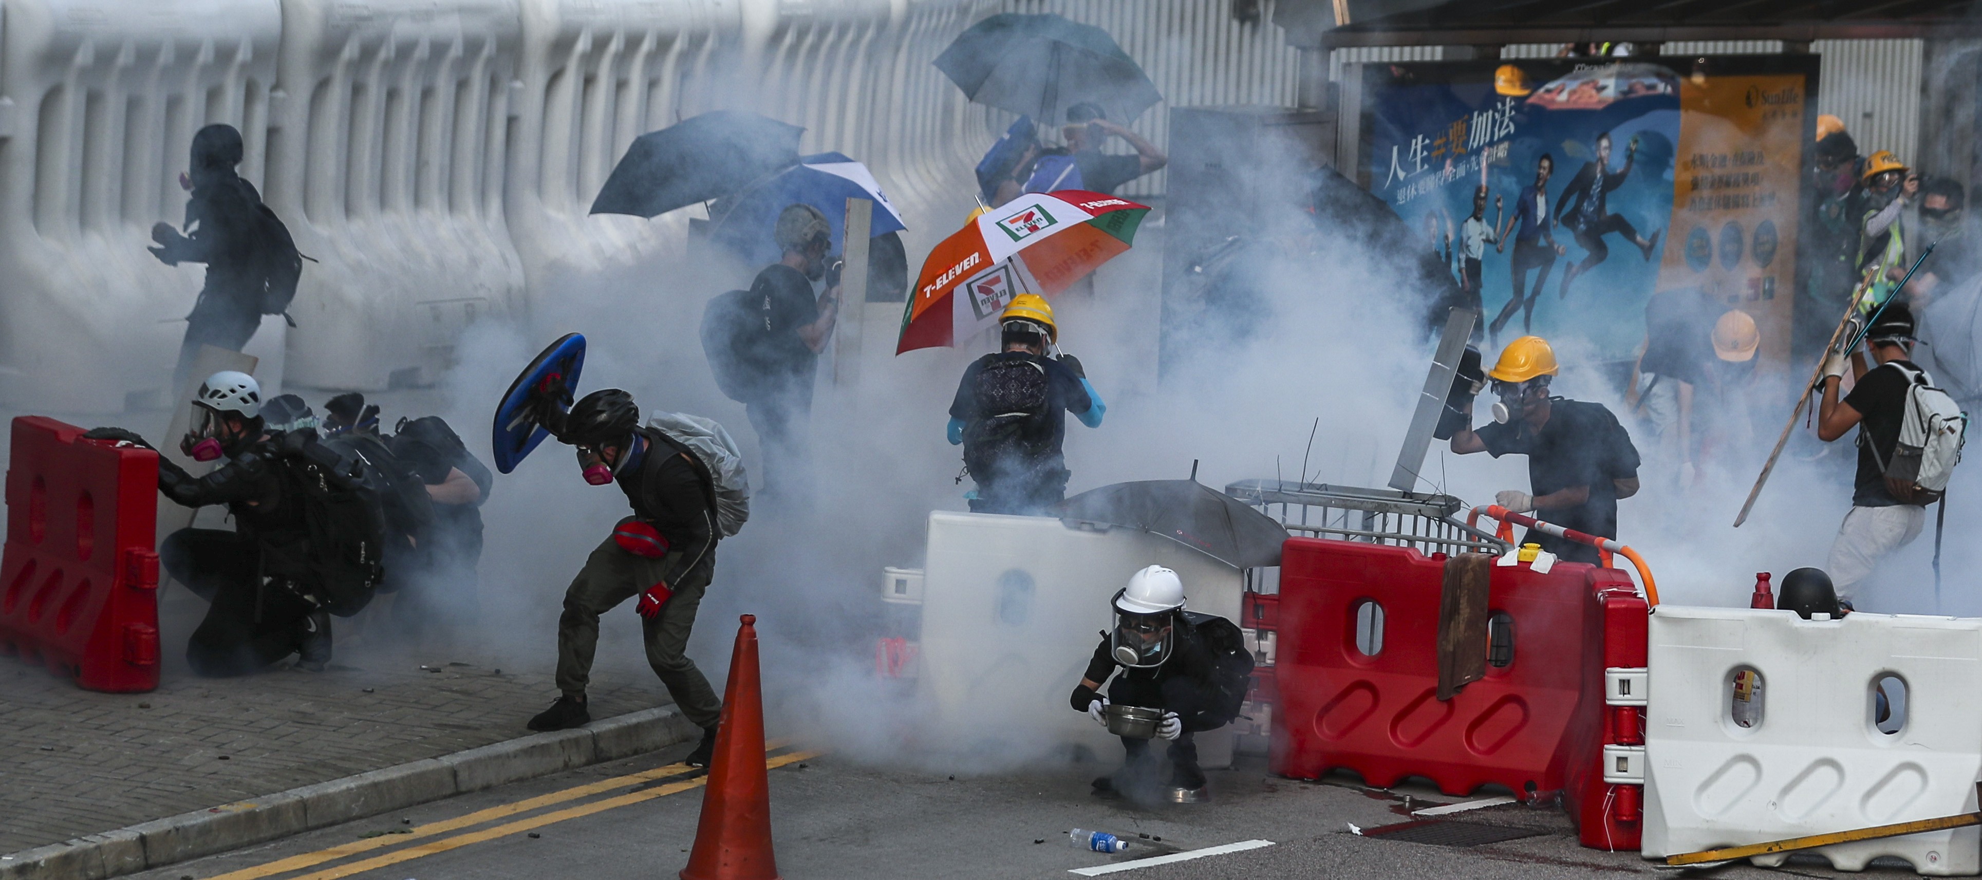
[[[729,654],[716,757],[702,795],[696,850],[682,880],[779,880],[771,852],[771,775],[763,765],[763,684],[757,676],[757,616],[743,614]]]

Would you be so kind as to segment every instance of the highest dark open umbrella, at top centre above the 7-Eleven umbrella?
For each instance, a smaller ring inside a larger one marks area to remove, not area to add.
[[[1082,101],[1128,125],[1163,99],[1106,30],[1060,16],[985,18],[936,55],[936,67],[971,101],[1043,125],[1058,125],[1066,107]]]

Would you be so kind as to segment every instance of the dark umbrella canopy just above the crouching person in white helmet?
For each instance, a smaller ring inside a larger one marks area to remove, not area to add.
[[[1197,480],[1142,480],[1082,492],[1052,507],[1066,525],[1106,523],[1163,535],[1235,569],[1280,565],[1286,529]]]

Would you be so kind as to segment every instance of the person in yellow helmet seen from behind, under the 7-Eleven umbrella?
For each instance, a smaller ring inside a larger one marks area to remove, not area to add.
[[[1019,293],[999,315],[997,355],[963,371],[949,402],[949,444],[977,482],[971,511],[1035,515],[1066,497],[1066,412],[1102,426],[1108,404],[1072,355],[1046,357],[1058,343],[1052,305]]]

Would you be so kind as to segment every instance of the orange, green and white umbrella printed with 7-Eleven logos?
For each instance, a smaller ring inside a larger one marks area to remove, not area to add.
[[[1150,206],[1102,192],[1029,192],[977,214],[922,264],[894,353],[955,345],[1019,293],[1058,293],[1128,250]]]

